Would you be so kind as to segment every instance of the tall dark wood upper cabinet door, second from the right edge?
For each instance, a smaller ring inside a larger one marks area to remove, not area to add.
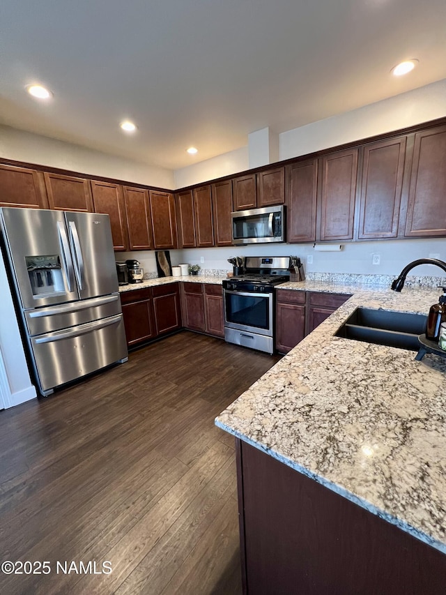
[[[396,238],[406,137],[364,146],[358,239]]]

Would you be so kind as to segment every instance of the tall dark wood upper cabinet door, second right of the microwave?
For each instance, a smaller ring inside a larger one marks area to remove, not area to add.
[[[321,158],[321,240],[353,239],[357,149]]]

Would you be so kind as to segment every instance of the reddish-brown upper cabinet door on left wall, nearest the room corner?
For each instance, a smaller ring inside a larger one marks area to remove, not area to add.
[[[176,248],[174,195],[150,190],[153,245],[155,248]]]

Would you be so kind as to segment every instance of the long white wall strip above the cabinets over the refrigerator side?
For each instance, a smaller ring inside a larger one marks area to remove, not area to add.
[[[26,133],[24,130],[0,126],[0,158],[60,167],[92,176],[174,188],[174,172],[162,167],[151,167],[123,159],[84,146]]]

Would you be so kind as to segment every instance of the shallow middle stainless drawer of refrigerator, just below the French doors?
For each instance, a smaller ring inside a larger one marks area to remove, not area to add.
[[[26,310],[24,317],[31,336],[52,333],[69,326],[121,314],[119,294]]]

